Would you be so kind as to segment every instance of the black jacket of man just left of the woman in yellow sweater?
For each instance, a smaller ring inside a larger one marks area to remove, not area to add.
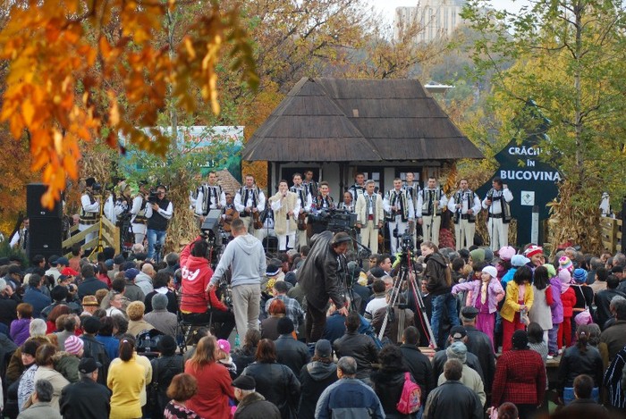
[[[63,419],[108,419],[111,391],[96,381],[83,378],[63,388],[59,406]]]

